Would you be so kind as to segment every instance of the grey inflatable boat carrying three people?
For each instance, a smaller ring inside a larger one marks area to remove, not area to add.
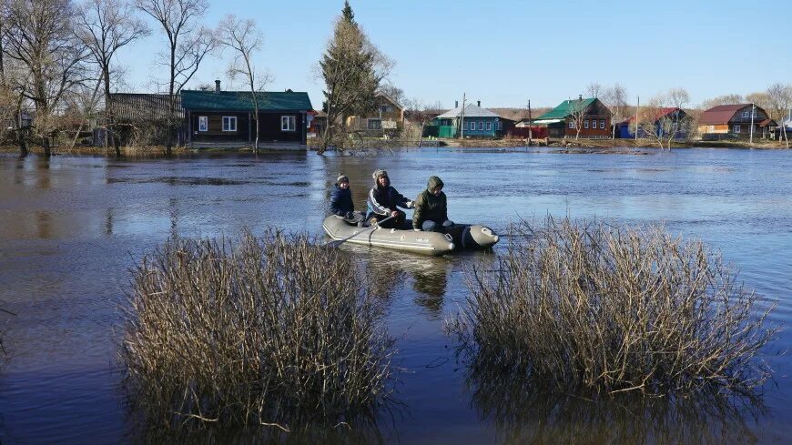
[[[492,228],[481,225],[457,224],[446,233],[424,232],[408,227],[361,228],[335,215],[325,218],[322,228],[334,240],[433,256],[462,248],[492,248],[500,239]]]

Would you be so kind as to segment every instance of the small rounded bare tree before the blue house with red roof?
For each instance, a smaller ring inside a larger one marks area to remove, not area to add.
[[[671,88],[652,97],[639,111],[635,131],[655,140],[661,150],[670,151],[674,139],[686,135],[692,126],[692,119],[683,109],[688,102],[690,95],[684,88]]]

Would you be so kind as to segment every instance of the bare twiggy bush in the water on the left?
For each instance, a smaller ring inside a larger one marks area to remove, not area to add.
[[[135,271],[121,352],[133,403],[170,425],[371,421],[393,341],[357,267],[302,235],[168,241]]]

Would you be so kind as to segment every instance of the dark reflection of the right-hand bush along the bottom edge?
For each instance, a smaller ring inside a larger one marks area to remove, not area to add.
[[[496,366],[473,366],[472,405],[503,443],[756,443],[749,423],[765,412],[756,394],[702,393],[685,399],[641,394],[553,393]]]

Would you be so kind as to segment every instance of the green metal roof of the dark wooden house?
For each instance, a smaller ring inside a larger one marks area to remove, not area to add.
[[[308,93],[297,91],[259,92],[259,110],[295,111],[311,110]],[[181,106],[186,110],[242,110],[253,109],[249,91],[192,91],[182,90]]]

